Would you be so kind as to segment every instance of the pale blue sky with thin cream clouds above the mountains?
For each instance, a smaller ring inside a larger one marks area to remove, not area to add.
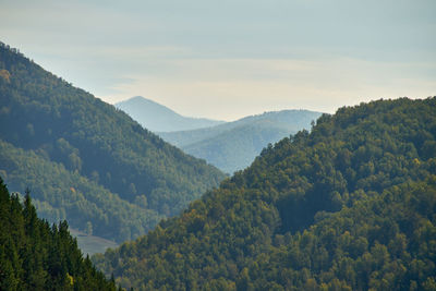
[[[189,117],[436,95],[434,0],[0,0],[0,41],[114,104]]]

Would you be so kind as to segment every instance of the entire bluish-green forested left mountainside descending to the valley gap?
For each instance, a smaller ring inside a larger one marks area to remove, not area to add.
[[[0,44],[0,172],[43,217],[123,242],[225,174]]]

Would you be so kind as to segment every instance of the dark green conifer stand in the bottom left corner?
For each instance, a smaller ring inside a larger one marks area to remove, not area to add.
[[[83,258],[66,221],[50,226],[0,178],[0,290],[117,290]],[[118,290],[121,290],[119,288]]]

